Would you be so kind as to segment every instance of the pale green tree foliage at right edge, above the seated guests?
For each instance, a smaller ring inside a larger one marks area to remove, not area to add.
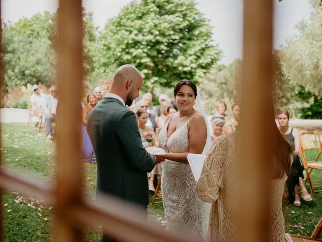
[[[279,51],[281,69],[288,80],[291,100],[302,118],[322,116],[322,11],[320,1],[311,1],[314,11],[308,22],[297,25],[299,34]]]

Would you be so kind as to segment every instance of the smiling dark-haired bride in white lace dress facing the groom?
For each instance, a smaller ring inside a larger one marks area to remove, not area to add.
[[[178,82],[174,96],[179,112],[168,116],[158,137],[159,144],[167,152],[161,183],[167,229],[204,241],[210,204],[201,201],[195,192],[196,181],[187,155],[203,152],[207,125],[203,115],[193,108],[197,96],[193,82]]]

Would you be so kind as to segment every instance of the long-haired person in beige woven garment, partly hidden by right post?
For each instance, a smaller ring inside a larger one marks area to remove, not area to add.
[[[272,118],[271,124],[273,140],[273,159],[271,163],[271,186],[274,192],[270,193],[270,237],[267,241],[284,241],[284,217],[282,213],[282,198],[284,184],[291,167],[292,147],[280,134]],[[236,217],[238,194],[238,137],[239,132],[223,135],[215,139],[209,150],[196,192],[201,200],[212,203],[207,241],[238,241],[236,238]],[[227,229],[229,228],[229,229]]]

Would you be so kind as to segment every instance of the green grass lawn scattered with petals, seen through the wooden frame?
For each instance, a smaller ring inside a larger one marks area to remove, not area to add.
[[[4,166],[17,172],[28,173],[41,180],[51,182],[54,174],[55,145],[38,136],[37,129],[27,125],[3,124]],[[313,154],[309,154],[313,155]],[[84,190],[94,199],[96,190],[96,165],[84,163]],[[313,178],[322,178],[322,172],[314,171]],[[150,200],[152,197],[150,197]],[[310,235],[322,216],[322,193],[313,196],[313,202],[302,202],[300,207],[284,204],[285,231]],[[48,208],[33,198],[15,191],[4,193],[5,241],[52,241],[54,208]],[[163,206],[148,206],[150,223],[165,220]],[[84,232],[86,241],[99,241],[99,228],[88,228]]]

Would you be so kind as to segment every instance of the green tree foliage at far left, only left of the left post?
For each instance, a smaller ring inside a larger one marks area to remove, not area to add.
[[[5,84],[9,88],[42,81],[49,84],[54,53],[47,31],[51,14],[45,12],[15,24],[3,23]]]

